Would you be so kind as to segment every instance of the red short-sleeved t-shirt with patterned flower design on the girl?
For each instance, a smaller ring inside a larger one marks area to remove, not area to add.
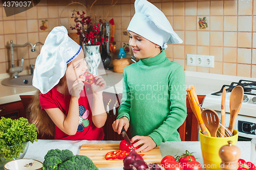
[[[64,95],[53,87],[46,94],[40,94],[41,109],[59,108],[66,116],[68,115],[71,95]],[[91,101],[91,100],[90,100]],[[103,140],[102,128],[97,128],[92,122],[92,112],[86,95],[86,89],[80,93],[79,104],[79,125],[75,135],[68,135],[55,125],[55,139],[63,140]]]

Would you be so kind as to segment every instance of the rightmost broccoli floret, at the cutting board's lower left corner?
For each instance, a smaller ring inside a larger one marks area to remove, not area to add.
[[[84,155],[75,155],[71,158],[75,163],[75,170],[98,170],[93,161]]]

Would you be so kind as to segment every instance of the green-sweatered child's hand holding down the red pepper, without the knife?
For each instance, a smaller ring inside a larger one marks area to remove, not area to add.
[[[134,141],[136,141],[136,143],[133,144],[134,148],[140,144],[143,144],[139,149],[136,150],[137,153],[153,150],[157,146],[150,136],[134,136],[131,139],[131,143]]]

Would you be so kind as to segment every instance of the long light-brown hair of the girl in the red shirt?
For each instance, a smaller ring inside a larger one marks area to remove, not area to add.
[[[62,86],[66,84],[66,75],[59,80],[58,85]],[[55,135],[55,124],[52,122],[52,119],[49,117],[46,111],[41,110],[41,105],[39,102],[40,90],[37,90],[33,95],[33,98],[28,106],[29,113],[29,122],[34,123],[37,127],[37,132],[40,136],[54,136]]]

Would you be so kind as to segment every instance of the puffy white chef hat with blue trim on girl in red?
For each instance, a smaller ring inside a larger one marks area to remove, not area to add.
[[[55,27],[35,61],[32,84],[45,94],[65,75],[67,64],[81,51],[81,46],[68,36],[65,27]]]

